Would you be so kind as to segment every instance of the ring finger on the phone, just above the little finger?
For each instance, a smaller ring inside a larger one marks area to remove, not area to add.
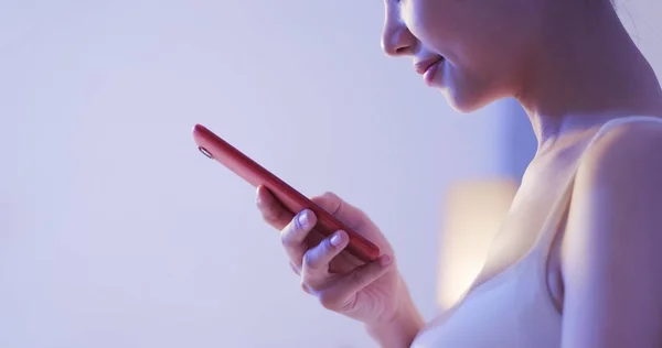
[[[325,276],[329,271],[329,262],[348,246],[349,241],[350,238],[345,231],[337,231],[331,237],[322,240],[317,247],[309,249],[303,254],[303,267],[301,269],[303,276]]]

